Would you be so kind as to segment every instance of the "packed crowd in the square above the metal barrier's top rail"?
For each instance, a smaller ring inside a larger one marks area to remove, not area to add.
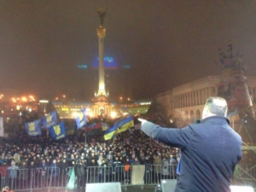
[[[125,131],[109,141],[104,141],[102,135],[86,137],[86,145],[84,131],[78,131],[76,135],[67,136],[61,141],[54,141],[47,131],[43,131],[38,137],[29,137],[22,130],[17,135],[19,137],[12,141],[3,138],[0,145],[0,165],[6,162],[10,166],[12,160],[19,166],[23,161],[27,165],[33,163],[39,166],[42,160],[47,163],[66,160],[67,165],[71,166],[72,160],[84,158],[87,165],[96,166],[100,157],[109,161],[108,163],[118,157],[123,164],[127,160],[131,164],[136,161],[140,164],[153,164],[156,156],[161,160],[168,160],[171,154],[177,160],[177,148],[169,148],[136,130]]]

